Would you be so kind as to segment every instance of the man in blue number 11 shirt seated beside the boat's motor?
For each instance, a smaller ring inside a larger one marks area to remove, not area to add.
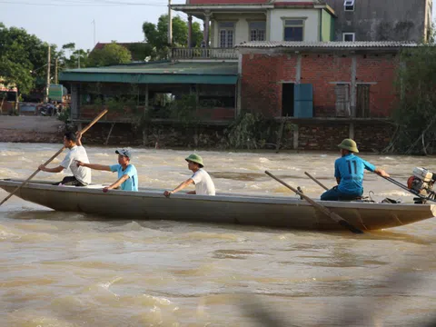
[[[360,198],[363,194],[362,183],[365,169],[383,177],[389,177],[389,174],[381,168],[377,168],[372,163],[354,155],[359,153],[359,150],[352,139],[344,139],[338,146],[342,155],[334,163],[334,177],[336,177],[338,185],[322,193],[321,200],[340,201]]]

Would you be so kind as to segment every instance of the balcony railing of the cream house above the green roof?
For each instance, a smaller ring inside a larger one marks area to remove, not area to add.
[[[172,59],[238,59],[234,48],[173,48]]]

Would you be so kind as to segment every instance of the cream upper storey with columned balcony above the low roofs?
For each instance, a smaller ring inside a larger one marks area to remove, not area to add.
[[[173,49],[173,59],[236,59],[236,45],[253,41],[328,42],[333,40],[335,14],[319,0],[186,0],[171,5],[188,15],[188,40],[193,17],[203,20],[201,49]]]

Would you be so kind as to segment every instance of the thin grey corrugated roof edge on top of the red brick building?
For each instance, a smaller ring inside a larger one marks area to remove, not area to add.
[[[411,42],[399,41],[355,41],[355,42],[291,42],[258,41],[236,45],[238,48],[399,48],[419,46]]]

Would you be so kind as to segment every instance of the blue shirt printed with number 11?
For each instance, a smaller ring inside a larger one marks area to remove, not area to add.
[[[342,193],[363,193],[363,171],[375,171],[375,166],[354,154],[344,155],[334,162],[334,177],[341,178],[338,190]]]

